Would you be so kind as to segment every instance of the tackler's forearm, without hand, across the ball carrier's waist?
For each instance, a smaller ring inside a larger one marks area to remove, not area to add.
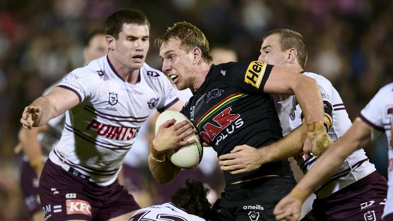
[[[307,127],[306,125],[301,125],[283,139],[262,147],[260,149],[264,156],[262,164],[297,155],[302,151],[306,138]]]

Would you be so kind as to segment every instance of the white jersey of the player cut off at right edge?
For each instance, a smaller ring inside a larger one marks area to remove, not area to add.
[[[387,197],[384,208],[385,215],[393,213],[393,83],[382,87],[367,106],[360,111],[360,118],[374,129],[385,131],[387,137],[389,166],[387,168]]]

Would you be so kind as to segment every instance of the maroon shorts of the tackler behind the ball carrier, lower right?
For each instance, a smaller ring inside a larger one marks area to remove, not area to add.
[[[316,199],[312,204],[312,215],[318,221],[379,221],[382,220],[386,194],[385,177],[374,171],[326,199]]]

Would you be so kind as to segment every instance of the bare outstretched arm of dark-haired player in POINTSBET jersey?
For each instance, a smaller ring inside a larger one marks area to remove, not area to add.
[[[66,110],[75,107],[79,98],[75,92],[55,87],[46,96],[39,97],[33,101],[22,112],[20,123],[25,129],[39,127],[46,124],[50,119],[60,116]]]

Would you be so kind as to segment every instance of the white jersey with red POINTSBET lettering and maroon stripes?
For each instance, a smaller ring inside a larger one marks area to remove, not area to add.
[[[107,55],[73,70],[58,87],[75,92],[80,103],[66,113],[61,140],[50,159],[101,186],[116,180],[124,156],[151,112],[178,101],[162,72],[145,63],[140,81],[131,85],[118,75]]]

